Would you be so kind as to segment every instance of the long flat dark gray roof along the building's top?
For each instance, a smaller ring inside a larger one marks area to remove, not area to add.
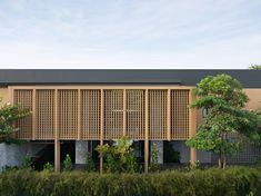
[[[245,88],[261,88],[261,70],[174,69],[1,69],[0,85],[187,85],[205,76],[228,74]]]

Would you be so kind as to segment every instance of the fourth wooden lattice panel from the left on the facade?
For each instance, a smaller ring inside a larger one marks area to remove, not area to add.
[[[100,139],[101,90],[81,90],[82,139]]]

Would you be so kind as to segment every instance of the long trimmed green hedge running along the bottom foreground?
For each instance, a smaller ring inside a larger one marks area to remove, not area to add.
[[[12,170],[0,174],[1,196],[245,196],[261,192],[261,169],[230,167],[221,170],[163,171],[158,174],[90,174]]]

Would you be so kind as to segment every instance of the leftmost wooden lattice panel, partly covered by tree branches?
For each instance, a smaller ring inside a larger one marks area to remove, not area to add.
[[[13,91],[13,102],[20,105],[23,109],[32,110],[32,89],[16,89]],[[32,138],[32,115],[17,121],[19,131],[17,137],[21,139]]]

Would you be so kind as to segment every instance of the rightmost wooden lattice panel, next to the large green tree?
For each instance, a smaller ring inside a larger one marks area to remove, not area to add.
[[[189,138],[189,90],[171,90],[171,138]]]

